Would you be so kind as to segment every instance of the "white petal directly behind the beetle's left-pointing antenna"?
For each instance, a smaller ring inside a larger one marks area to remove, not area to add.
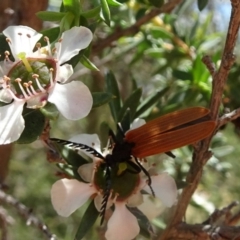
[[[101,153],[101,142],[97,134],[78,134],[71,137],[69,141],[85,144],[89,147],[94,148],[97,152]],[[92,154],[86,154],[89,157],[92,157]]]

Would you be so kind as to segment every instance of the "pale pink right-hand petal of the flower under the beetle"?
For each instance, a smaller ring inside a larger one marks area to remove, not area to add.
[[[174,179],[167,173],[162,173],[157,176],[151,176],[152,188],[157,198],[159,198],[164,205],[171,207],[177,201],[177,186]],[[151,193],[148,186],[144,190]]]

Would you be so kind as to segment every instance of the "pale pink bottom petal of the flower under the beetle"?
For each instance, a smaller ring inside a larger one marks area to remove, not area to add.
[[[115,203],[115,210],[107,225],[107,240],[131,240],[139,234],[137,218],[126,208],[125,204]]]

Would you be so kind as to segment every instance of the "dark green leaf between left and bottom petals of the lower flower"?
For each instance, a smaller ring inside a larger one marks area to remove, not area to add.
[[[82,217],[81,223],[78,227],[74,240],[81,240],[86,235],[86,233],[90,229],[92,229],[92,226],[96,222],[98,216],[99,212],[97,211],[93,200],[89,204],[87,210],[85,211]]]

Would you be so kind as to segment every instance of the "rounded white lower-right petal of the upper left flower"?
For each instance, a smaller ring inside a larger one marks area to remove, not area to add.
[[[93,104],[88,87],[79,81],[55,84],[48,101],[54,103],[61,114],[70,120],[87,116]]]

